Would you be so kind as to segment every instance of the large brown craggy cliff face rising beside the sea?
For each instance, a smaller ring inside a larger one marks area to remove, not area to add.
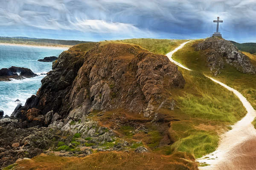
[[[74,48],[73,48],[74,49]],[[183,88],[177,66],[164,55],[128,44],[96,45],[90,51],[64,51],[53,63],[36,96],[12,116],[28,127],[47,126],[47,113],[58,113],[64,124],[93,110],[125,108],[154,117],[167,99],[166,89]],[[53,115],[52,115],[53,116]]]

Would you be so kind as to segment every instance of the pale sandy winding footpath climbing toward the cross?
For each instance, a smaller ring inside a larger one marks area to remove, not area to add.
[[[176,65],[191,71],[189,68],[181,65],[172,59],[174,54],[179,49],[190,41],[182,43],[174,51],[166,54],[166,56]],[[207,77],[207,76],[206,76]],[[213,153],[197,159],[202,164],[209,166],[199,167],[200,170],[256,170],[256,130],[251,124],[256,116],[256,111],[247,101],[247,99],[238,91],[219,82],[211,77],[212,81],[232,91],[243,103],[247,114],[235,125],[231,126],[232,130],[223,133],[220,137],[220,143],[217,150]]]

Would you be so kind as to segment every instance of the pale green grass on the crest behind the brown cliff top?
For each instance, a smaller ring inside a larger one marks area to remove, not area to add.
[[[142,48],[145,48],[148,51],[151,51],[156,54],[166,54],[169,51],[174,50],[181,43],[186,42],[187,40],[169,40],[169,39],[150,39],[150,38],[134,38],[126,40],[112,40],[112,41],[102,41],[101,44],[106,44],[109,42],[116,43],[128,43],[133,45],[139,45]]]

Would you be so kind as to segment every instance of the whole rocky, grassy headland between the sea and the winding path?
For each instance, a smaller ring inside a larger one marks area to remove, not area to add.
[[[0,120],[2,167],[44,153],[10,166],[197,170],[245,115],[232,92],[157,54],[186,40],[120,41],[75,45],[53,62],[37,94]]]

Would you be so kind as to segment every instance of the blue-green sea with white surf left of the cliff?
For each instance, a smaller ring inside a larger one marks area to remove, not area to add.
[[[22,80],[13,79],[9,82],[0,82],[0,110],[4,115],[11,115],[17,106],[19,99],[22,105],[32,94],[36,94],[41,87],[41,79],[52,69],[52,62],[38,62],[44,57],[57,56],[64,49],[34,48],[22,46],[0,45],[0,69],[12,66],[25,67],[31,69],[38,77],[26,78]]]

